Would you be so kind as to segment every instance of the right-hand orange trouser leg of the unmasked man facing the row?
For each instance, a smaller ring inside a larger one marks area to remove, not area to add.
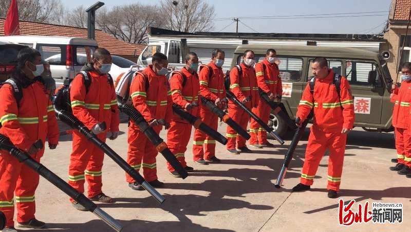
[[[340,191],[343,173],[345,144],[347,135],[341,133],[327,134],[330,156],[328,158],[328,190]]]

